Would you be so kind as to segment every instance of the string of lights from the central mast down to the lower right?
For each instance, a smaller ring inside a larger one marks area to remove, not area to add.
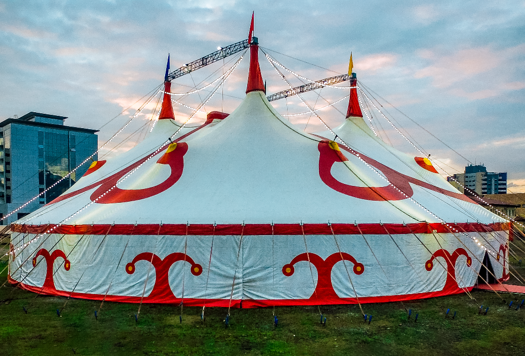
[[[268,58],[268,56],[267,56]],[[288,86],[291,88],[291,85],[290,83],[286,80],[285,76],[282,75],[281,72],[279,72],[279,70],[277,70],[277,67],[275,66],[274,63],[272,63],[272,61],[268,58],[268,61],[270,62],[270,64],[272,65],[272,67],[274,67],[274,69],[276,70],[276,72],[279,74],[279,76],[281,77],[281,79],[283,81],[285,81],[285,83],[288,84]],[[478,244],[478,246],[480,246],[482,249],[484,249],[486,252],[489,252],[491,253],[493,256],[496,256],[497,253],[491,249],[489,249],[487,246],[485,246],[484,244],[482,244],[481,242],[479,242],[478,239],[476,239],[474,236],[470,236],[466,233],[463,233],[463,232],[460,232],[458,229],[454,228],[454,226],[450,225],[449,223],[445,222],[445,220],[441,219],[440,217],[438,217],[438,215],[434,214],[432,211],[430,211],[429,209],[427,209],[425,206],[423,206],[422,204],[420,204],[419,202],[417,202],[415,199],[413,199],[412,197],[409,197],[404,191],[402,191],[401,189],[397,188],[390,180],[388,180],[384,175],[382,175],[379,171],[377,171],[375,169],[375,167],[373,167],[372,165],[370,165],[369,163],[367,163],[362,157],[361,157],[361,154],[359,152],[356,152],[354,149],[352,149],[348,144],[346,144],[342,139],[341,137],[339,137],[337,134],[335,134],[335,132],[321,119],[321,117],[319,117],[319,115],[317,115],[317,113],[313,112],[312,109],[310,108],[310,106],[301,98],[301,96],[299,95],[299,93],[296,94],[298,96],[298,98],[301,100],[301,102],[306,105],[306,107],[308,107],[308,109],[310,110],[311,113],[313,113],[314,115],[317,116],[317,118],[319,119],[319,121],[324,125],[325,128],[327,128],[327,130],[332,134],[334,135],[334,140],[337,139],[339,142],[341,142],[341,144],[343,144],[343,146],[345,146],[346,148],[348,148],[348,150],[350,150],[350,153],[353,154],[355,157],[357,157],[366,167],[370,168],[373,172],[375,172],[375,174],[377,174],[381,179],[385,180],[387,182],[387,184],[389,186],[392,186],[394,189],[396,189],[398,192],[400,192],[406,199],[410,200],[411,202],[413,202],[414,204],[416,204],[416,206],[422,210],[424,210],[426,213],[428,213],[429,215],[431,215],[433,218],[437,219],[440,223],[442,224],[445,224],[447,226],[447,228],[451,231],[454,231],[460,235],[464,235],[470,239],[472,239],[475,243]],[[375,106],[375,105],[374,105]],[[377,106],[375,106],[377,108]],[[379,110],[379,109],[378,109]],[[393,125],[393,124],[392,124]],[[408,140],[408,139],[407,139]],[[411,143],[412,144],[412,143]]]

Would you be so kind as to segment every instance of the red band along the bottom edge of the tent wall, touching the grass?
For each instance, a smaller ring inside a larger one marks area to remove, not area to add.
[[[229,299],[195,299],[195,298],[149,298],[148,296],[142,297],[127,297],[127,296],[116,296],[116,295],[103,295],[103,294],[89,294],[89,293],[77,293],[77,292],[66,292],[64,290],[47,290],[43,287],[30,286],[24,283],[15,281],[12,277],[8,276],[9,283],[17,285],[30,292],[55,295],[62,297],[72,297],[81,299],[91,300],[106,300],[106,301],[119,301],[123,303],[162,303],[162,304],[180,304],[183,301],[186,306],[202,307],[206,305],[208,307],[228,307],[230,306]],[[465,293],[465,290],[469,292],[474,287],[455,288],[453,290],[437,290],[436,292],[426,293],[414,293],[404,295],[392,295],[392,296],[379,296],[379,297],[360,297],[359,303],[387,303],[391,301],[405,301],[424,299],[432,297],[442,297],[446,295],[461,294]],[[297,305],[337,305],[337,304],[358,304],[356,298],[328,298],[323,300],[309,299],[232,299],[231,306],[233,308],[257,308],[257,307],[273,307],[273,306],[297,306]]]

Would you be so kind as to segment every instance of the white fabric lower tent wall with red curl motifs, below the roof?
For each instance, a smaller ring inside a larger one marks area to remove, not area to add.
[[[505,242],[504,236],[496,239],[489,233],[480,234],[493,245]],[[478,239],[480,236],[478,233],[469,235],[477,236]],[[227,305],[234,274],[235,285],[231,297],[234,305],[238,305],[242,299],[243,306],[356,303],[355,294],[362,298],[362,302],[443,295],[451,292],[440,293],[447,279],[453,279],[453,276],[448,275],[450,272],[455,274],[459,288],[474,286],[481,267],[480,261],[485,255],[485,250],[474,240],[465,237],[458,240],[449,233],[417,234],[426,248],[414,234],[335,235],[335,238],[334,235],[306,235],[304,238],[302,235],[246,235],[242,238],[240,251],[239,235],[108,235],[104,238],[103,235],[52,234],[46,237],[41,246],[31,244],[25,254],[34,256],[37,248],[51,249],[56,244],[54,251],[60,250],[68,256],[69,271],[64,268],[64,259],[56,258],[53,263],[54,275],[51,277],[56,290],[39,288],[44,286],[47,261],[39,256],[33,268],[32,259],[29,259],[25,262],[22,274],[11,276],[14,281],[20,281],[20,277],[27,275],[23,281],[25,288],[44,294],[90,299],[101,299],[107,293],[107,300],[133,302],[140,301],[144,296],[143,301],[147,303],[176,303],[184,293],[185,304],[190,305],[203,305],[205,300],[215,305]],[[286,276],[283,267],[296,256],[306,253],[304,240],[312,265],[304,260],[297,262],[293,265],[293,274]],[[342,253],[350,254],[356,262],[363,264],[364,271],[361,274],[354,272],[354,264],[348,260],[333,265],[328,263],[330,255],[338,257],[338,244]],[[467,250],[468,257],[457,257],[454,268],[448,268],[448,273],[445,257],[437,257],[433,261],[433,268],[428,271],[425,268],[425,263],[431,257],[428,250],[434,253],[442,247],[450,255],[465,247],[470,252]],[[185,251],[186,262],[181,259],[163,267],[169,281],[169,285],[164,287],[172,295],[151,297],[154,285],[158,282],[157,273],[161,271],[150,263],[150,257],[135,262],[132,274],[126,271],[133,258],[141,253],[153,253],[163,260],[170,254],[184,254]],[[328,265],[314,261],[316,255],[327,261]],[[121,256],[122,260],[117,265]],[[467,258],[470,258],[470,266]],[[201,267],[200,274],[191,273],[193,265],[190,261]],[[17,256],[12,261],[12,270],[17,269],[22,262],[22,255]],[[501,264],[496,259],[491,262],[496,277],[501,278]],[[318,268],[328,268],[328,282],[333,285],[335,297],[319,289],[316,292],[319,281],[327,277],[320,276]],[[459,288],[456,286],[453,292],[462,292]]]

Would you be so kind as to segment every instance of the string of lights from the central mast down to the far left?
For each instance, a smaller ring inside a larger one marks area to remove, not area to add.
[[[241,57],[240,59],[242,59],[243,57]],[[233,67],[232,67],[233,68]],[[229,75],[231,75],[233,73],[233,70],[230,71]],[[206,105],[206,103],[212,99],[213,95],[215,95],[215,93],[222,87],[222,85],[224,84],[224,82],[227,80],[227,78],[229,77],[229,75],[227,75],[223,82],[218,85],[218,87],[214,90],[214,92],[208,97],[208,99],[202,103],[199,107],[202,107],[204,105]],[[160,92],[160,91],[159,91]],[[87,203],[85,206],[83,206],[82,208],[80,208],[79,210],[77,210],[76,212],[72,213],[71,215],[69,215],[67,218],[65,218],[64,220],[60,221],[58,224],[55,224],[53,226],[53,228],[50,228],[49,230],[47,230],[46,232],[44,233],[41,233],[41,234],[37,234],[33,239],[30,239],[29,241],[27,241],[26,243],[18,246],[16,249],[14,249],[13,251],[9,251],[7,253],[4,254],[4,256],[7,256],[9,254],[15,254],[17,251],[21,250],[21,249],[25,249],[25,247],[27,247],[29,244],[31,243],[34,243],[36,242],[38,239],[42,238],[43,236],[47,235],[47,234],[51,234],[53,233],[53,230],[57,229],[59,226],[61,226],[62,224],[64,224],[65,222],[67,222],[68,220],[74,218],[77,214],[81,213],[83,210],[87,209],[88,207],[90,207],[93,203],[97,202],[99,199],[101,199],[103,196],[105,196],[107,193],[109,193],[111,190],[117,188],[117,185],[120,184],[121,182],[123,182],[125,179],[128,179],[134,172],[136,172],[138,169],[140,169],[140,167],[142,167],[143,165],[145,165],[151,158],[153,158],[156,154],[158,154],[166,145],[168,144],[171,144],[171,139],[173,137],[175,137],[178,132],[180,132],[182,130],[182,128],[188,123],[188,121],[191,120],[191,118],[193,116],[195,116],[195,114],[197,113],[197,111],[195,111],[190,117],[187,118],[187,120],[184,122],[184,124],[182,124],[181,127],[179,127],[177,129],[177,131],[170,136],[169,139],[166,139],[166,141],[159,147],[155,150],[155,152],[153,152],[152,154],[150,154],[148,156],[148,158],[146,158],[144,160],[144,162],[142,162],[140,165],[138,165],[137,167],[133,168],[130,172],[128,172],[127,175],[125,175],[124,177],[122,177],[121,179],[119,179],[116,184],[114,186],[112,186],[111,188],[109,188],[108,190],[106,190],[106,192],[102,193],[101,195],[99,195],[97,198],[95,198],[95,200],[92,200],[90,201],[89,203]],[[122,131],[122,129],[121,129]],[[28,220],[25,220],[23,221],[22,223],[24,224],[26,221]]]

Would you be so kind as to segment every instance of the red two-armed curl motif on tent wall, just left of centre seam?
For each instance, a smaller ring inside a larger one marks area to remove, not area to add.
[[[150,293],[150,295],[144,299],[155,299],[155,300],[169,300],[176,298],[173,294],[173,290],[170,287],[170,281],[168,279],[168,273],[170,267],[177,261],[186,261],[191,264],[191,273],[194,276],[201,275],[202,266],[198,263],[195,263],[193,259],[181,252],[174,252],[166,257],[164,260],[151,252],[143,252],[135,256],[133,261],[126,265],[126,272],[128,274],[133,274],[135,272],[135,263],[138,261],[148,261],[151,262],[155,268],[155,285]]]

